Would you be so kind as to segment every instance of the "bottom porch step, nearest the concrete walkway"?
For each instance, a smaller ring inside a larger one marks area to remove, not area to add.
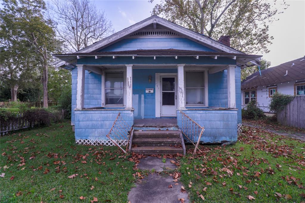
[[[132,147],[131,152],[138,154],[183,154],[183,148],[170,146],[140,146]]]

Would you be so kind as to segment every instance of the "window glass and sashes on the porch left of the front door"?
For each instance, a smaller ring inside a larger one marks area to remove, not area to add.
[[[105,104],[123,105],[124,73],[105,73]]]

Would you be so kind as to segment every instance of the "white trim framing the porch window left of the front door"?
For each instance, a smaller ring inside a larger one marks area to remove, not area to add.
[[[123,93],[123,105],[106,105],[105,101],[106,101],[106,94],[105,94],[105,73],[115,73],[115,72],[123,72],[123,84],[124,84],[124,93]],[[109,69],[109,70],[104,70],[102,71],[102,102],[101,105],[102,107],[107,107],[107,108],[117,108],[117,107],[125,107],[126,106],[126,94],[127,94],[127,90],[126,90],[126,69],[124,68],[120,68],[120,69]]]

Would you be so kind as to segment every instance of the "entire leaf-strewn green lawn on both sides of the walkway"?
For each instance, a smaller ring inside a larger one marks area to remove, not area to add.
[[[264,130],[243,131],[236,144],[201,145],[202,153],[178,158],[190,202],[250,202],[249,195],[251,202],[305,201],[305,144]],[[76,145],[69,122],[0,141],[1,202],[128,202],[135,186],[130,156],[116,147]]]

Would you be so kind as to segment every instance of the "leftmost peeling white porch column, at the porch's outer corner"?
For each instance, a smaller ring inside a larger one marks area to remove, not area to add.
[[[84,90],[85,90],[85,67],[77,66],[77,92],[76,92],[76,109],[84,108]]]

